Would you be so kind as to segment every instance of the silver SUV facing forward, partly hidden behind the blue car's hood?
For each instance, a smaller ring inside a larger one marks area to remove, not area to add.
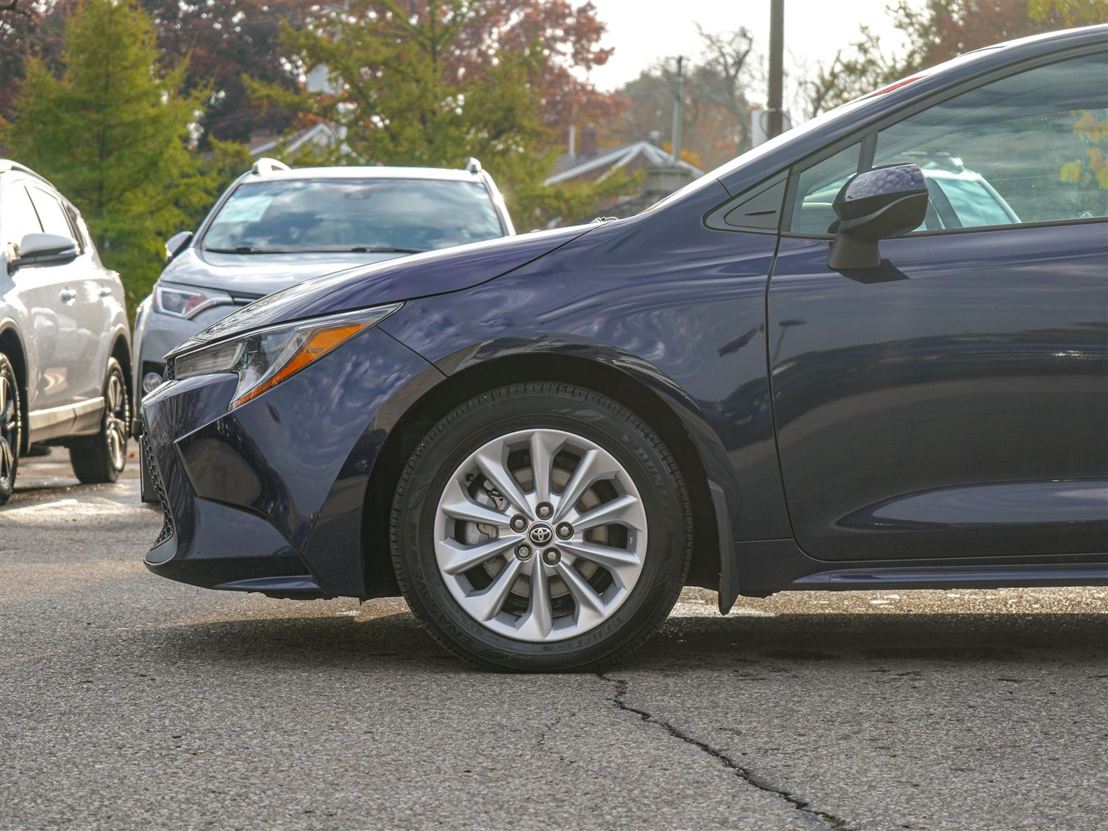
[[[515,232],[492,177],[471,158],[439,167],[298,167],[260,158],[170,259],[135,315],[134,388],[162,381],[164,356],[259,297],[309,277]]]

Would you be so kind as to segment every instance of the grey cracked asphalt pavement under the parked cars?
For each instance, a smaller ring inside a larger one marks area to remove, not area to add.
[[[695,589],[603,675],[495,675],[402,601],[155,577],[134,466],[22,464],[0,829],[1108,828],[1108,589]]]

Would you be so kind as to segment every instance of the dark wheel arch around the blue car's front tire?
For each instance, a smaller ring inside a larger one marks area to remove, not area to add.
[[[668,379],[637,365],[567,355],[562,351],[513,352],[469,362],[419,398],[390,430],[373,463],[366,490],[362,521],[362,566],[367,593],[388,595],[396,585],[389,555],[388,522],[403,465],[434,423],[454,407],[490,389],[520,381],[557,381],[595,390],[633,409],[674,454],[694,505],[693,563],[688,585],[717,588],[720,544],[716,510],[709,492],[706,450],[690,434],[669,394],[681,394]],[[670,388],[671,393],[659,391]],[[688,402],[686,406],[690,406]],[[680,407],[680,403],[677,403]],[[708,449],[707,453],[712,450]],[[722,453],[720,448],[718,453]],[[727,526],[730,517],[727,517]],[[727,541],[728,548],[730,541]]]

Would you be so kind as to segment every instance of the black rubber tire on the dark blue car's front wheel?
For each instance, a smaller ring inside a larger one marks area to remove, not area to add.
[[[433,541],[439,499],[466,456],[497,437],[536,428],[584,437],[614,456],[638,490],[649,529],[642,574],[623,605],[592,630],[547,643],[507,637],[471,617],[444,583]],[[393,500],[392,564],[412,612],[452,654],[497,670],[595,670],[642,646],[669,614],[688,572],[691,525],[680,470],[630,410],[567,383],[516,383],[455,408],[416,448]]]

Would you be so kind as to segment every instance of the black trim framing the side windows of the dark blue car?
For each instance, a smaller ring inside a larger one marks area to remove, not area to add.
[[[986,84],[993,83],[994,81],[999,81],[1005,78],[1010,78],[1012,75],[1018,75],[1023,72],[1030,71],[1033,69],[1038,69],[1039,66],[1048,66],[1051,63],[1061,63],[1063,61],[1069,61],[1075,58],[1084,58],[1086,55],[1095,55],[1108,52],[1104,45],[1096,44],[1085,44],[1081,47],[1074,47],[1071,49],[1049,52],[1047,54],[1038,55],[1036,58],[1028,58],[1018,63],[1009,64],[1007,66],[1002,66],[995,69],[992,72],[985,72],[981,75],[975,75],[974,78],[966,79],[965,81],[950,86],[945,90],[938,90],[922,98],[919,101],[913,101],[905,104],[900,110],[894,113],[885,115],[883,119],[874,121],[864,127],[850,133],[848,136],[840,138],[833,145],[833,150],[825,152],[827,147],[821,147],[814,153],[810,153],[808,156],[793,162],[789,167],[789,186],[784,194],[784,206],[781,211],[781,236],[789,237],[793,239],[834,239],[833,234],[800,234],[789,230],[786,226],[786,217],[788,217],[788,224],[792,223],[792,211],[797,197],[797,183],[800,178],[800,174],[807,171],[809,167],[819,164],[824,158],[834,155],[835,153],[845,150],[851,144],[859,141],[862,142],[862,152],[859,160],[859,172],[871,170],[873,165],[873,156],[876,151],[878,145],[878,133],[880,133],[885,127],[897,124],[905,119],[910,119],[919,112],[927,110],[936,104],[941,104],[944,101],[956,98],[964,92],[977,89],[978,86],[984,86]],[[861,134],[861,137],[860,137]],[[866,166],[862,167],[862,164]],[[970,228],[935,228],[933,230],[914,230],[909,234],[904,234],[900,237],[893,237],[895,239],[907,239],[915,237],[931,237],[931,236],[946,236],[947,234],[982,234],[995,230],[1010,230],[1013,228],[1039,228],[1039,227],[1054,227],[1058,225],[1089,225],[1098,223],[1108,223],[1108,217],[1106,216],[1091,216],[1091,217],[1074,217],[1068,219],[1046,219],[1039,222],[1030,223],[1012,223],[1010,225],[984,225],[975,226]]]

